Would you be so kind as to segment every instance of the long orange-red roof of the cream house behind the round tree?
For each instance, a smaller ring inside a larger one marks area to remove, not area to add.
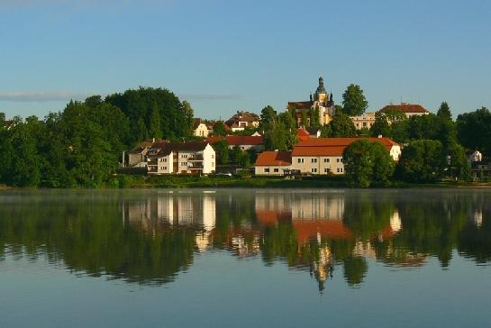
[[[298,143],[292,151],[292,156],[341,156],[342,151],[351,142],[361,138],[309,138]],[[388,138],[365,138],[368,141],[379,142],[390,151],[397,143]]]

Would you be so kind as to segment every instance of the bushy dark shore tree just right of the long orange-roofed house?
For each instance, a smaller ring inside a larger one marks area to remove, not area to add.
[[[438,181],[446,168],[446,154],[440,141],[421,140],[403,149],[397,175],[407,182]]]

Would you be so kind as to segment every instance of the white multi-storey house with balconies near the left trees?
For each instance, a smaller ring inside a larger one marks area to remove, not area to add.
[[[205,141],[154,142],[146,159],[149,174],[209,174],[215,170],[214,148]]]

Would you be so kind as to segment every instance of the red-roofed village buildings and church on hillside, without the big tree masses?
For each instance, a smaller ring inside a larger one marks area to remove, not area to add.
[[[237,111],[224,122],[194,118],[195,140],[143,141],[127,153],[123,166],[146,169],[149,175],[239,172],[269,177],[344,175],[343,153],[355,141],[377,142],[394,163],[400,159],[405,143],[392,140],[383,131],[377,133],[382,119],[391,125],[413,116],[430,114],[423,105],[389,104],[377,112],[345,117],[349,118],[347,124],[350,126],[339,133],[340,136],[334,136],[326,132],[326,127],[335,123],[343,107],[334,104],[332,94],[326,91],[323,77],[320,77],[309,100],[286,104],[285,114],[291,114],[294,121],[290,130],[295,134],[292,138],[295,141],[290,147],[279,150],[274,142],[268,141],[268,133],[271,133],[271,127],[265,123],[268,111],[272,109],[266,107],[261,114]],[[350,128],[354,130],[350,131]],[[448,167],[451,167],[450,154],[447,159]],[[483,161],[479,150],[468,151],[467,160],[474,179],[489,177],[491,165]]]

